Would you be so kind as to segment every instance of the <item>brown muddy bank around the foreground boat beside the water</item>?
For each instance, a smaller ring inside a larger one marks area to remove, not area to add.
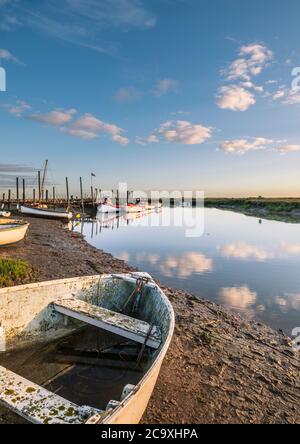
[[[1,249],[0,257],[28,261],[34,281],[132,270],[60,222],[30,223],[25,242]],[[184,291],[164,290],[176,329],[144,422],[300,423],[300,355],[289,338]]]

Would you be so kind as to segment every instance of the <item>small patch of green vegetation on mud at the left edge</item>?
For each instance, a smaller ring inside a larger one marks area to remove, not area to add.
[[[28,281],[32,273],[30,266],[20,260],[0,259],[0,287],[9,287]]]

